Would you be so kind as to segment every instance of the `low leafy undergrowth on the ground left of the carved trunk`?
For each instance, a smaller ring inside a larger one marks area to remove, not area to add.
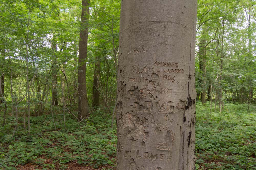
[[[12,137],[11,134],[1,134],[0,144],[0,169],[17,168],[27,163],[35,164],[42,169],[63,169],[69,162],[81,165],[90,165],[98,168],[102,165],[114,165],[116,154],[116,130],[110,129],[111,119],[105,119],[103,111],[94,115],[94,122],[88,120],[85,123],[67,117],[69,129],[64,130],[63,125],[58,131],[54,131],[51,117],[46,118],[42,126],[39,126],[45,116],[31,118],[31,136],[21,134],[22,128]],[[57,115],[61,119],[61,115]],[[61,123],[61,122],[60,122]],[[48,126],[46,126],[48,125]],[[0,128],[9,127],[6,124]],[[36,128],[39,127],[39,128]],[[9,133],[12,133],[10,131]],[[49,163],[47,160],[51,160]]]

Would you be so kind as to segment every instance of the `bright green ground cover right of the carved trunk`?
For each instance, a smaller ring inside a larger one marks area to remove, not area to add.
[[[197,104],[198,169],[256,169],[256,106],[226,104],[222,113]]]

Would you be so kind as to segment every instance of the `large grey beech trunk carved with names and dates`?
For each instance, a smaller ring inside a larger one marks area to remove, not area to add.
[[[195,169],[197,1],[122,1],[117,169]]]

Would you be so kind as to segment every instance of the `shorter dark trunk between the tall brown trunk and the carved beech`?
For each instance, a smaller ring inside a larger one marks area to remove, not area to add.
[[[94,76],[93,76],[93,86],[92,86],[92,107],[100,106],[100,98],[99,98],[99,78],[100,78],[100,60],[99,57],[96,58],[96,62],[94,64]]]

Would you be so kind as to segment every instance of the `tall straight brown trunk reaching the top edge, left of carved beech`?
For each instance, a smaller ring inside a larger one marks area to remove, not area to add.
[[[86,59],[87,59],[87,40],[88,40],[88,17],[89,0],[82,0],[81,29],[79,39],[78,56],[78,117],[82,121],[89,116],[89,106],[86,91]]]

